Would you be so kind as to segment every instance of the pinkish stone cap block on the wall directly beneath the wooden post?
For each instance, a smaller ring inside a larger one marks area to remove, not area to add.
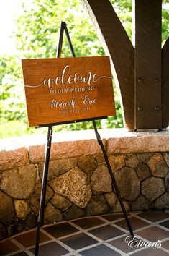
[[[106,137],[107,138],[107,137]],[[109,132],[107,153],[145,153],[169,151],[169,132],[128,132],[116,129]]]

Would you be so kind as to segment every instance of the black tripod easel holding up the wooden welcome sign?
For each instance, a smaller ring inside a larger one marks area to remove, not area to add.
[[[61,22],[61,25],[60,25],[60,37],[59,37],[58,51],[57,51],[57,55],[56,56],[57,56],[57,58],[60,58],[60,56],[61,56],[62,45],[63,45],[63,32],[64,32],[64,30],[65,30],[66,37],[68,39],[68,43],[69,43],[69,46],[70,46],[71,54],[72,54],[73,57],[75,57],[73,46],[72,46],[72,43],[71,43],[71,40],[70,40],[70,36],[69,36],[69,33],[68,33],[68,28],[67,28],[65,22]],[[103,118],[106,118],[106,116],[99,117],[98,119],[103,119]],[[102,150],[102,152],[104,154],[104,159],[105,159],[106,165],[107,165],[107,167],[109,169],[109,174],[111,176],[112,183],[113,183],[114,188],[116,190],[117,197],[119,199],[119,203],[120,203],[120,205],[122,207],[122,211],[124,213],[124,218],[126,220],[129,232],[130,232],[131,236],[134,237],[134,234],[133,234],[133,231],[132,231],[132,227],[131,227],[131,225],[129,223],[129,218],[127,217],[127,212],[126,212],[126,210],[124,208],[124,204],[122,202],[122,198],[120,196],[119,189],[117,187],[117,182],[114,179],[114,174],[113,174],[113,172],[111,170],[109,159],[108,159],[108,156],[106,155],[106,150],[105,150],[104,144],[103,144],[103,142],[101,140],[101,136],[99,135],[99,132],[97,130],[95,120],[96,119],[83,119],[83,120],[78,120],[78,121],[67,121],[67,122],[63,122],[63,123],[55,123],[55,124],[48,124],[48,125],[46,124],[46,125],[39,126],[39,127],[48,127],[48,131],[47,131],[47,144],[46,144],[46,149],[45,149],[44,171],[43,171],[43,176],[42,176],[42,189],[41,189],[41,196],[40,196],[40,210],[39,210],[38,224],[37,224],[37,239],[36,239],[36,245],[35,245],[35,256],[38,256],[39,244],[40,244],[40,228],[41,228],[41,226],[43,224],[43,217],[44,217],[45,196],[46,196],[46,187],[47,187],[47,174],[48,174],[48,168],[49,168],[49,162],[50,162],[50,148],[51,148],[51,143],[52,143],[52,126],[57,125],[57,124],[70,124],[70,122],[92,121],[93,129],[95,131],[97,141],[98,141],[99,145],[101,146],[101,150]]]

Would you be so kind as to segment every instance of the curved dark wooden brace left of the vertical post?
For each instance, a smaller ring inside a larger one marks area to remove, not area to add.
[[[134,129],[134,48],[109,0],[82,0],[106,54],[111,56],[119,82],[124,121]]]

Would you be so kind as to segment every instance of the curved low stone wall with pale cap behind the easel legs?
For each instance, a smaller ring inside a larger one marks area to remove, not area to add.
[[[126,210],[168,209],[169,132],[100,133]],[[37,225],[45,137],[1,140],[1,239]],[[54,133],[44,223],[120,211],[93,131]]]

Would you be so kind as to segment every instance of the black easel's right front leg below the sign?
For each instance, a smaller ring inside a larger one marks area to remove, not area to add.
[[[106,154],[106,150],[105,150],[105,148],[104,148],[104,144],[103,144],[103,142],[102,142],[102,140],[101,140],[101,137],[100,137],[100,135],[99,135],[99,132],[98,132],[98,130],[97,130],[96,123],[95,123],[94,120],[92,120],[92,124],[93,124],[94,131],[95,131],[95,133],[96,133],[97,141],[98,141],[99,145],[101,146],[101,150],[102,150],[102,152],[103,152],[103,154],[104,154],[104,159],[105,159],[106,165],[107,165],[107,167],[108,167],[108,169],[109,169],[109,174],[110,174],[111,180],[112,180],[112,182],[113,182],[113,184],[114,184],[114,188],[115,188],[115,190],[116,190],[116,192],[117,192],[117,197],[118,197],[119,203],[120,203],[120,205],[121,205],[121,207],[122,207],[122,211],[123,211],[123,213],[124,213],[124,218],[125,218],[125,220],[126,220],[126,223],[127,223],[128,229],[129,229],[129,232],[130,232],[131,236],[134,237],[134,234],[133,234],[133,231],[132,231],[132,227],[131,227],[131,225],[130,225],[130,223],[129,223],[129,218],[127,217],[127,212],[126,212],[126,210],[125,210],[125,208],[124,208],[124,204],[123,204],[123,202],[122,202],[122,197],[120,196],[119,189],[118,189],[118,187],[117,187],[117,182],[116,182],[116,180],[115,180],[115,178],[114,178],[114,174],[113,174],[113,172],[112,172],[112,170],[111,170],[111,166],[110,166],[110,163],[109,163],[109,158],[108,158],[108,156],[107,156],[107,154]]]

